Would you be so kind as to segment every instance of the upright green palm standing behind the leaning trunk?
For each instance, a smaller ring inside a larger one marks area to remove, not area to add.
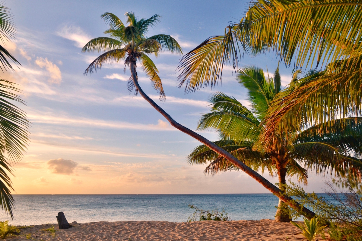
[[[297,81],[294,74],[293,82]],[[361,155],[362,151],[362,118],[357,122],[354,118],[338,119],[333,123],[313,125],[302,132],[293,132],[292,141],[284,145],[279,138],[274,139],[273,148],[260,150],[256,148],[260,135],[266,131],[262,124],[270,111],[270,103],[281,90],[281,78],[278,68],[274,78],[265,78],[262,69],[250,66],[237,71],[237,81],[248,91],[251,108],[243,106],[235,98],[216,92],[210,98],[211,112],[204,114],[198,124],[198,130],[216,129],[220,133],[220,141],[214,142],[243,161],[255,171],[270,176],[275,174],[279,179],[279,188],[283,190],[286,176],[298,176],[298,180],[307,184],[307,169],[314,169],[325,175],[349,175],[361,180],[362,162],[351,154]],[[348,125],[341,126],[341,123]],[[329,131],[322,134],[316,132],[329,124]],[[270,145],[270,143],[268,143]],[[188,156],[189,164],[207,164],[205,174],[215,174],[238,167],[228,162],[223,156],[210,150],[205,145],[196,147]],[[285,203],[279,199],[275,221],[289,222]]]

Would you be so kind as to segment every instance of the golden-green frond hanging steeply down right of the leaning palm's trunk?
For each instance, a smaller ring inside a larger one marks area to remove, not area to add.
[[[158,76],[158,70],[155,63],[145,54],[141,55],[141,66],[146,76],[150,78],[153,89],[160,94],[160,100],[165,101],[166,95],[162,87],[161,78]]]

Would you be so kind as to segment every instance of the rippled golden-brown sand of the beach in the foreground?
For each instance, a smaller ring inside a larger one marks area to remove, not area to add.
[[[19,226],[20,227],[20,226]],[[54,227],[55,231],[51,231]],[[44,229],[49,229],[48,231]],[[290,223],[274,220],[195,221],[172,223],[167,221],[119,221],[74,224],[73,228],[58,230],[57,224],[21,228],[20,237],[8,240],[303,240],[299,229]],[[26,236],[28,234],[28,236]],[[305,239],[304,239],[305,240]],[[319,240],[321,238],[319,237]]]

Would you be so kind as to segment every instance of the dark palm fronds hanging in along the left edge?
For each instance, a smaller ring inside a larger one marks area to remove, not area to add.
[[[14,38],[15,27],[9,9],[0,4],[0,40],[3,44]],[[0,44],[0,69],[13,70],[9,60],[20,63]],[[24,104],[14,83],[0,78],[0,206],[13,218],[14,198],[12,182],[8,173],[13,174],[12,164],[21,160],[29,141],[29,121],[25,113],[14,105]]]

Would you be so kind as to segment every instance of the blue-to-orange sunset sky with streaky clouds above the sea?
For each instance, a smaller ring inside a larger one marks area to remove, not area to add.
[[[16,38],[7,43],[21,65],[0,76],[18,84],[31,122],[28,150],[14,166],[17,194],[176,194],[268,193],[243,172],[205,176],[205,166],[190,166],[186,156],[200,145],[174,129],[141,96],[127,91],[129,70],[124,64],[105,65],[91,76],[83,72],[97,57],[82,53],[90,39],[105,36],[104,12],[125,20],[162,16],[148,36],[169,34],[184,53],[212,35],[222,35],[229,22],[238,22],[248,1],[46,1],[12,0]],[[176,121],[195,130],[208,112],[210,95],[222,91],[248,106],[246,91],[224,68],[222,83],[185,94],[177,87],[177,64],[182,56],[151,56],[166,94],[160,103],[150,81],[138,70],[143,90]],[[257,65],[274,72],[273,54],[244,56],[240,66]],[[281,66],[283,86],[291,68]],[[211,141],[213,132],[198,132]],[[264,175],[272,183],[276,178]],[[321,192],[325,178],[310,172],[307,191]]]

